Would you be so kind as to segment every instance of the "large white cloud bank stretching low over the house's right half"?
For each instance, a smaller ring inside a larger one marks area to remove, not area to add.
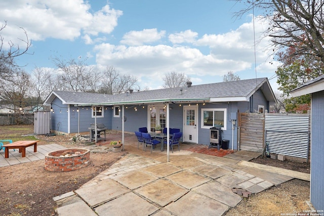
[[[261,36],[263,24],[256,22],[256,38]],[[148,35],[144,32],[144,30],[129,32],[124,36],[125,45],[115,46],[104,43],[97,45],[94,49],[97,53],[97,64],[113,65],[121,73],[135,75],[143,81],[142,84],[140,83],[143,87],[147,86],[147,83],[155,83],[151,89],[163,85],[156,80],[162,80],[166,73],[174,70],[192,77],[194,84],[222,81],[222,76],[228,71],[237,73],[242,79],[255,77],[252,20],[224,34],[205,34],[200,38],[197,38],[196,32],[191,30],[170,34],[169,40],[178,44],[174,47],[144,46],[144,42],[149,42],[143,36]],[[157,30],[151,32],[155,35],[152,37],[158,40]],[[182,42],[192,43],[193,47],[180,46]],[[258,77],[272,75],[277,63],[275,61],[269,63],[271,54],[264,49],[271,45],[271,42],[265,38],[256,44]],[[201,47],[206,47],[210,52],[203,54],[199,50]]]

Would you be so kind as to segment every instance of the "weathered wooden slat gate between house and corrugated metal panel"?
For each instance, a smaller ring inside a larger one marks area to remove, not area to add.
[[[262,152],[264,148],[264,114],[238,114],[239,150]]]

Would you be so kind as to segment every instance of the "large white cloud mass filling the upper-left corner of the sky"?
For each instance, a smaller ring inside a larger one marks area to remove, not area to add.
[[[123,14],[108,5],[94,14],[90,9],[90,4],[83,0],[1,1],[0,20],[8,20],[5,33],[8,38],[17,38],[16,29],[21,26],[34,41],[49,37],[73,40],[83,31],[90,35],[110,33]]]

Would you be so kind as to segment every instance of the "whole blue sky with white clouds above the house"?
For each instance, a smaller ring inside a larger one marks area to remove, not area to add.
[[[221,82],[228,71],[270,79],[278,66],[271,42],[263,38],[254,52],[253,16],[233,17],[242,7],[227,0],[13,0],[0,2],[0,26],[7,20],[4,41],[20,46],[19,27],[27,31],[33,55],[16,59],[27,72],[51,71],[52,57],[81,57],[136,76],[142,89],[161,88],[171,71],[191,77],[193,85]],[[255,20],[257,41],[266,27]],[[270,84],[275,91],[275,78]]]

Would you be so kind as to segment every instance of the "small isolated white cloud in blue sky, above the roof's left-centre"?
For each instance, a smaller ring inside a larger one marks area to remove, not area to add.
[[[157,31],[156,28],[143,29],[142,31],[130,31],[127,32],[123,39],[120,41],[121,44],[129,46],[140,46],[146,43],[155,42],[164,37],[166,31]]]

